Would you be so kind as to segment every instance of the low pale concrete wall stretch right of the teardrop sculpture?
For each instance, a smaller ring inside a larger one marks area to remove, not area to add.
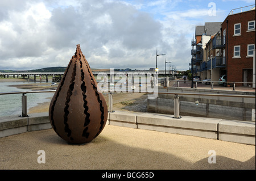
[[[125,119],[123,119],[123,117]],[[255,145],[255,123],[158,113],[109,112],[109,124]]]

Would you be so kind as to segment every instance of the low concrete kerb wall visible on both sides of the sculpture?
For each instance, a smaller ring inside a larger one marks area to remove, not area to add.
[[[249,121],[115,111],[108,113],[107,124],[255,145],[255,122]],[[0,117],[0,137],[50,128],[48,112]]]

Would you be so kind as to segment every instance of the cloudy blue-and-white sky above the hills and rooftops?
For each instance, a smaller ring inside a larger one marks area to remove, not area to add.
[[[80,44],[91,68],[191,62],[195,26],[223,22],[254,0],[1,0],[0,70],[67,66]],[[216,11],[215,11],[216,10]],[[170,64],[167,64],[167,67]],[[168,68],[167,68],[168,69]]]

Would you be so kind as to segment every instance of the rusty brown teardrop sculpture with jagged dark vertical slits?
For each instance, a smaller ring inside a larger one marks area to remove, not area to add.
[[[53,130],[69,144],[84,144],[104,129],[108,107],[77,45],[49,106]]]

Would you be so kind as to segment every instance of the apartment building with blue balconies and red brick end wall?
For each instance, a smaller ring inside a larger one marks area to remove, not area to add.
[[[196,62],[200,64],[200,69],[197,66],[194,75],[218,81],[225,74],[229,82],[227,85],[233,85],[233,82],[236,82],[236,86],[252,85],[255,77],[255,5],[230,11],[220,24],[220,29],[214,30],[216,32],[205,46],[201,40],[203,58]]]

